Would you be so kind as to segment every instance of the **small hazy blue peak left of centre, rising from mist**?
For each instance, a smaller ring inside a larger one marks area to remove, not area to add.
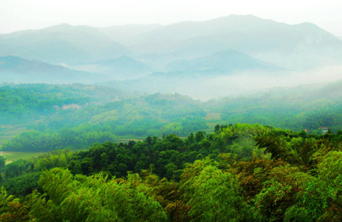
[[[72,65],[77,70],[103,73],[111,79],[138,78],[145,74],[152,73],[153,69],[130,56],[120,56],[89,63]]]

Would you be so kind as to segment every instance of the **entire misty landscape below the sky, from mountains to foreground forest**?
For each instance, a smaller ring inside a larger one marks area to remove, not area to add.
[[[342,221],[342,38],[231,15],[0,35],[0,221]]]

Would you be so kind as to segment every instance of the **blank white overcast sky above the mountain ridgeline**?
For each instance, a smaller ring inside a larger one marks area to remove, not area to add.
[[[0,0],[0,33],[60,23],[73,26],[162,25],[252,14],[289,24],[311,22],[342,36],[341,0]]]

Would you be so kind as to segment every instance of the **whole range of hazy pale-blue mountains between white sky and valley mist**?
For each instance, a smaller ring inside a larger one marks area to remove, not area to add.
[[[252,15],[231,15],[167,26],[95,28],[63,23],[17,31],[0,35],[0,56],[63,65],[88,75],[102,73],[109,80],[142,78],[150,73],[210,78],[247,70],[341,65],[342,41],[312,23],[288,25]]]

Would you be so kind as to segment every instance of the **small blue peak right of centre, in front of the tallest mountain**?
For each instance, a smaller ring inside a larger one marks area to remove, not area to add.
[[[167,65],[169,71],[188,73],[233,73],[244,70],[281,70],[257,58],[235,50],[219,51],[192,60],[177,60]]]

